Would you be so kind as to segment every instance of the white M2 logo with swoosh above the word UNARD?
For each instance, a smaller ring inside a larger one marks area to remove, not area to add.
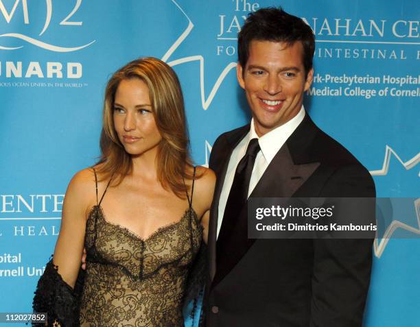
[[[40,31],[40,34],[38,36],[42,36],[45,31],[47,31],[49,24],[51,23],[51,17],[53,15],[53,3],[52,0],[45,0],[45,4],[46,4],[46,14],[45,14],[45,23],[43,26],[43,29]],[[73,10],[71,10],[71,12],[69,12],[67,14],[67,16],[64,16],[63,19],[60,21],[60,25],[82,25],[82,21],[73,21],[72,17],[74,16],[74,14],[76,12],[78,12],[78,10],[80,9],[80,5],[82,5],[82,0],[75,0],[75,5],[73,7]],[[0,0],[0,12],[3,15],[3,18],[5,19],[6,23],[10,23],[10,21],[12,21],[13,16],[16,12],[16,8],[18,8],[18,6],[21,6],[22,11],[23,11],[23,22],[25,23],[25,25],[29,25],[30,24],[30,14],[29,14],[29,10],[27,7],[27,0],[15,0],[13,7],[9,8],[9,10],[7,10],[5,8],[5,5],[3,3],[3,0]],[[0,17],[1,19],[1,17]],[[85,47],[89,47],[89,45],[91,45],[92,43],[95,43],[95,40],[91,41],[90,43],[87,43],[86,45],[80,45],[78,47],[59,47],[57,45],[51,45],[48,43],[45,43],[41,40],[38,40],[36,38],[32,38],[30,36],[24,35],[24,34],[20,34],[20,33],[7,33],[7,34],[1,34],[0,35],[0,40],[2,38],[16,38],[22,41],[25,41],[27,43],[30,43],[32,45],[35,45],[36,47],[40,47],[49,51],[55,51],[55,52],[71,52],[71,51],[78,51],[80,49],[83,49]],[[16,49],[21,49],[23,46],[20,47],[4,47],[2,45],[0,45],[0,49],[1,50],[16,50]]]

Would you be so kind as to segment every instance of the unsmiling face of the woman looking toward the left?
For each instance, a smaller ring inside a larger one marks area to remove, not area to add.
[[[115,93],[114,127],[128,154],[156,151],[162,136],[154,121],[148,86],[139,78],[122,80]]]

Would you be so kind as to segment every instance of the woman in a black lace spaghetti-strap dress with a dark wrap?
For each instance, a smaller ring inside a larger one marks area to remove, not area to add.
[[[100,147],[100,162],[69,184],[34,308],[47,306],[50,322],[78,323],[71,316],[85,248],[82,326],[183,326],[187,275],[207,242],[215,175],[191,165],[183,96],[170,66],[142,58],[110,78]],[[60,277],[71,289],[51,286]]]

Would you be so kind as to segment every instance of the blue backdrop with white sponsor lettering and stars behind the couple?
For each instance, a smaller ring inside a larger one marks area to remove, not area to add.
[[[312,119],[371,171],[378,196],[417,199],[413,218],[395,215],[375,240],[365,325],[420,326],[416,0],[0,0],[0,312],[31,310],[67,183],[99,155],[110,74],[140,56],[170,63],[193,158],[207,165],[215,138],[249,119],[236,36],[269,5],[316,34]]]

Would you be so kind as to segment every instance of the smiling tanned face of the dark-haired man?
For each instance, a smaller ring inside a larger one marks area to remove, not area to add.
[[[314,71],[305,79],[303,46],[253,40],[246,66],[237,64],[237,80],[246,93],[255,122],[262,136],[287,123],[301,110],[303,93],[312,84]]]

